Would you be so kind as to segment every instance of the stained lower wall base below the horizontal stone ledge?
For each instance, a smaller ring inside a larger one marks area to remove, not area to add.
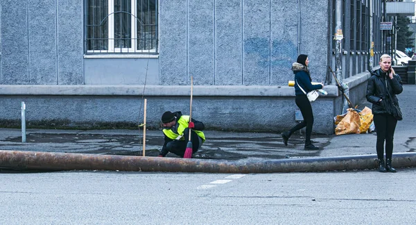
[[[161,111],[181,110],[189,115],[189,99],[174,100],[148,97],[147,128],[158,129]],[[0,103],[8,110],[1,110],[4,122],[19,126],[20,102],[26,103],[28,126],[56,126],[91,128],[137,127],[143,120],[143,102],[139,97],[1,97]],[[295,122],[293,99],[269,97],[237,97],[211,99],[196,97],[193,101],[192,117],[204,122],[207,129],[227,131],[273,131],[292,128]],[[226,107],[225,107],[226,106]],[[333,101],[320,99],[313,106],[317,133],[331,134],[333,131]],[[275,110],[270,110],[275,109]],[[273,113],[272,111],[275,111]],[[69,113],[72,112],[72,113]],[[207,115],[207,112],[211,114]],[[227,125],[225,125],[227,124]],[[328,127],[328,128],[325,128]]]

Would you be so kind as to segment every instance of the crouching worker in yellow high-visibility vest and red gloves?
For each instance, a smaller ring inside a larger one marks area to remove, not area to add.
[[[189,129],[191,129],[192,154],[196,153],[205,142],[205,135],[202,133],[204,124],[196,119],[191,119],[189,122],[189,116],[182,115],[180,111],[165,112],[162,115],[162,126],[164,144],[158,157],[164,157],[171,152],[183,158],[189,142]]]

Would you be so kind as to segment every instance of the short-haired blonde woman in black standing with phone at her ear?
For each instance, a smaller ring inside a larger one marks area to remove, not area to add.
[[[396,172],[392,167],[393,137],[397,119],[390,113],[392,102],[399,106],[396,94],[403,91],[401,78],[392,68],[392,58],[384,54],[380,57],[380,69],[372,73],[367,83],[367,101],[372,103],[374,126],[376,126],[376,151],[379,162],[379,172]],[[391,97],[391,99],[390,99]],[[384,166],[384,140],[385,140],[385,166]]]

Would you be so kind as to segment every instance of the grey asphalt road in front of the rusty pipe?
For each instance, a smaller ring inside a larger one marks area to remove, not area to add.
[[[0,224],[415,224],[415,172],[1,174]]]

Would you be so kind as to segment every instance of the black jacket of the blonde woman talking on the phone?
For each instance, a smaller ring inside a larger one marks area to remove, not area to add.
[[[392,97],[391,100],[399,106],[399,100],[397,99],[396,94],[403,92],[400,76],[396,74],[392,79],[390,79],[386,76],[385,72],[381,69],[377,69],[372,72],[372,76],[368,79],[367,94],[365,95],[367,101],[372,103],[372,114],[389,113],[388,106],[386,106],[386,104],[391,103],[391,101],[388,93],[386,92],[386,84],[387,91]],[[380,99],[383,99],[383,101],[379,102]]]

